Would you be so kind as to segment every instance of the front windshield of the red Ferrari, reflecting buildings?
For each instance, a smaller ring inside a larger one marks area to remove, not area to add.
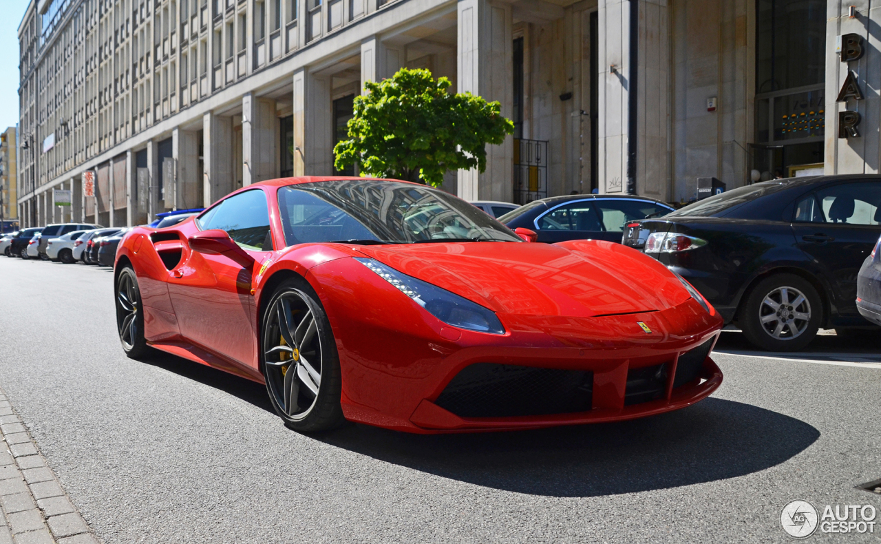
[[[473,205],[402,182],[339,180],[278,190],[287,245],[304,242],[522,242]]]

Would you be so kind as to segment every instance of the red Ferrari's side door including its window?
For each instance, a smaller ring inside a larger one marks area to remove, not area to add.
[[[169,271],[168,292],[178,326],[197,346],[256,368],[250,291],[255,271],[272,250],[266,193],[254,189],[228,197],[181,232],[192,235],[213,228],[225,230],[255,258],[255,265],[245,268],[228,257],[188,248],[181,263]]]

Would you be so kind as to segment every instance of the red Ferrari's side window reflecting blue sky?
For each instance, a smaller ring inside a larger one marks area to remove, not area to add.
[[[203,230],[219,228],[246,250],[271,251],[270,213],[263,190],[226,198],[199,218]]]

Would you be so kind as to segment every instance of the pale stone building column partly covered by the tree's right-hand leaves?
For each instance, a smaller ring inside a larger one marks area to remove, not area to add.
[[[458,92],[499,101],[501,115],[511,116],[514,92],[511,5],[491,0],[459,0]],[[459,170],[459,197],[465,200],[514,199],[514,140],[486,146],[486,171]]]

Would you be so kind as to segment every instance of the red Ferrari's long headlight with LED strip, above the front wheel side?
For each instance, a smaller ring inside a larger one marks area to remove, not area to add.
[[[413,302],[428,310],[430,314],[444,323],[469,331],[505,333],[505,328],[501,325],[499,317],[496,317],[491,309],[486,309],[458,294],[450,293],[446,289],[433,286],[421,279],[397,272],[394,268],[383,265],[375,259],[355,257],[355,260],[365,265],[380,278],[388,281],[401,293],[409,296]]]

